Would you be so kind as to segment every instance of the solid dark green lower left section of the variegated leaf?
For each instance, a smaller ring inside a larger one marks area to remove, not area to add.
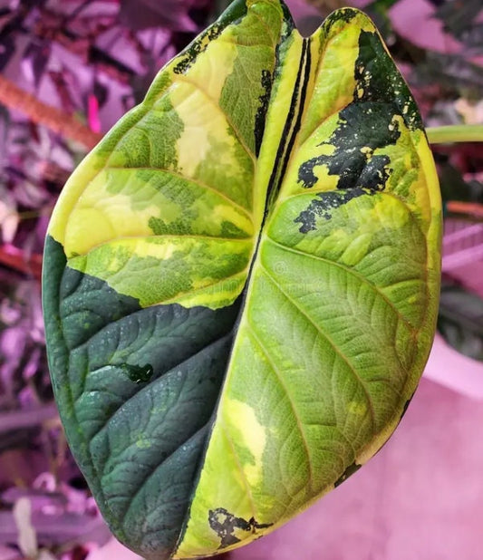
[[[43,305],[75,459],[121,541],[169,557],[227,367],[238,304],[140,309],[47,238]],[[59,289],[60,286],[60,289]]]

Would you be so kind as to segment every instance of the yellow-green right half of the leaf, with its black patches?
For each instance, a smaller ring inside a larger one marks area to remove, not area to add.
[[[440,193],[407,86],[353,10],[280,53],[260,153],[275,194],[177,558],[246,544],[342,482],[430,351]]]

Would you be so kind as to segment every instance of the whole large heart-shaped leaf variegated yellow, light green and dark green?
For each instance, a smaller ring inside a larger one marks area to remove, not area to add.
[[[435,328],[440,193],[371,21],[237,0],[82,162],[44,314],[72,452],[118,538],[214,555],[369,459]]]

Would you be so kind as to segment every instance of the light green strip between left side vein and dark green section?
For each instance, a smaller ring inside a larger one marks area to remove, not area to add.
[[[192,307],[200,299],[226,306],[233,302],[231,294],[239,294],[246,283],[251,250],[250,239],[133,237],[72,257],[70,266],[105,280],[119,294],[136,294],[142,307],[172,303]]]

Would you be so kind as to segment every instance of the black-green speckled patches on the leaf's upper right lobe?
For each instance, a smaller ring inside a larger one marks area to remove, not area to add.
[[[327,29],[337,20],[352,20],[356,14],[353,10],[337,12],[335,19],[329,18],[326,23]],[[410,130],[422,128],[411,92],[385,51],[379,34],[361,31],[354,78],[353,102],[341,111],[330,139],[319,144],[334,146],[333,154],[304,161],[298,170],[298,183],[313,188],[318,180],[314,168],[326,166],[329,175],[339,177],[337,188],[356,190],[353,195],[344,193],[343,196],[320,193],[320,199],[314,199],[295,218],[295,223],[302,225],[302,233],[315,229],[317,216],[329,219],[330,208],[386,188],[391,177],[391,160],[383,154],[374,155],[374,150],[393,145],[400,138],[396,116],[401,116]]]

